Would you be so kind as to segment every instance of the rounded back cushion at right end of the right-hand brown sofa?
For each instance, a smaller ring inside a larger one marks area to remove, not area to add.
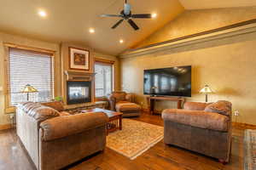
[[[218,102],[207,105],[205,111],[216,112],[225,116],[230,116],[231,114],[231,103],[224,100],[219,100]]]

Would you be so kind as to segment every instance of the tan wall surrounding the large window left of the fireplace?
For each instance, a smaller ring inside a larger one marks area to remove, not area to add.
[[[55,50],[55,94],[61,94],[61,79],[57,75],[61,73],[61,58],[60,58],[60,47],[57,43],[51,42],[42,42],[26,37],[19,37],[14,35],[9,35],[0,32],[0,86],[4,86],[5,77],[4,77],[4,48],[3,42],[15,43],[23,46],[33,47],[33,48],[44,48]],[[4,111],[4,92],[0,92],[0,125],[8,124],[10,122],[9,115],[5,114]]]

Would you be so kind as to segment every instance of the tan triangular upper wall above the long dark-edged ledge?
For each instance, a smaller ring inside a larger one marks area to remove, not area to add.
[[[136,48],[252,19],[256,19],[256,7],[185,10]]]

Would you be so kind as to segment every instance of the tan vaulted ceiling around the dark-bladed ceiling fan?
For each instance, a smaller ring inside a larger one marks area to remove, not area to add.
[[[214,3],[213,3],[214,2]],[[124,0],[1,0],[0,31],[50,42],[78,42],[106,54],[120,54],[165,26],[184,8],[226,8],[256,5],[255,0],[129,0],[133,14],[156,13],[155,19],[135,20],[134,31],[128,23],[115,30],[116,18],[100,14],[119,14]],[[38,16],[44,9],[45,18]],[[89,32],[90,28],[95,33]],[[124,43],[119,43],[123,39]]]

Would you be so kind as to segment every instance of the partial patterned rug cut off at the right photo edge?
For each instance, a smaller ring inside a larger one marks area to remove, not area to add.
[[[256,130],[245,131],[244,144],[244,169],[256,170]]]

